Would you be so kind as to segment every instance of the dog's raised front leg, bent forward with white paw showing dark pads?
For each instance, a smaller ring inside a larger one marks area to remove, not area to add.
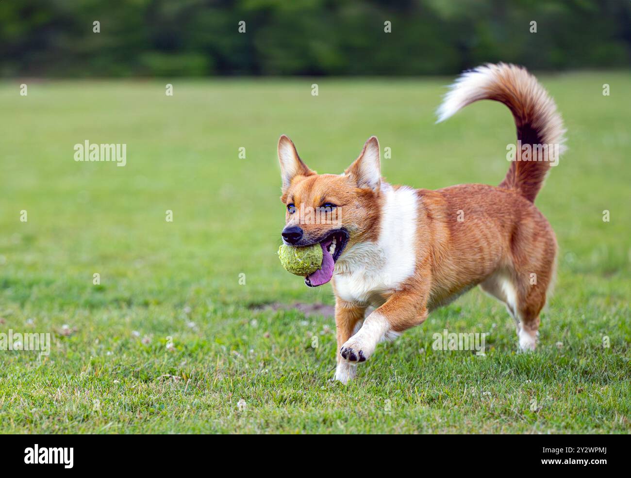
[[[339,354],[350,366],[366,361],[377,343],[397,337],[403,330],[420,325],[427,318],[427,295],[421,291],[399,291],[384,305],[375,309],[362,328],[339,349]]]

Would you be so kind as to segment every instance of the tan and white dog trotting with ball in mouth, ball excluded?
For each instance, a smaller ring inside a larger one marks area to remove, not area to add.
[[[463,73],[445,95],[437,122],[478,100],[504,103],[517,125],[516,158],[498,186],[387,184],[374,136],[344,173],[319,175],[288,137],[278,141],[287,209],[283,241],[322,247],[322,267],[305,283],[332,281],[340,382],[355,376],[379,341],[422,324],[432,310],[476,285],[505,303],[519,347],[536,346],[557,241],[533,202],[554,164],[545,157],[548,148],[564,149],[565,130],[536,78],[510,64]],[[305,207],[336,219],[301,221]],[[369,306],[375,309],[365,317]]]

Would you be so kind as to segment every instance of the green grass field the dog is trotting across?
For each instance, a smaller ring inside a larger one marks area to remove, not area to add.
[[[536,353],[516,353],[504,306],[476,289],[345,387],[332,317],[263,306],[333,304],[276,256],[281,133],[318,172],[375,134],[392,183],[502,180],[508,110],[435,125],[449,81],[1,83],[0,332],[50,332],[52,349],[0,351],[0,431],[628,433],[629,73],[541,76],[569,151],[536,201],[560,243]],[[85,140],[127,144],[127,165],[74,161]],[[487,355],[434,351],[445,328],[490,332]]]

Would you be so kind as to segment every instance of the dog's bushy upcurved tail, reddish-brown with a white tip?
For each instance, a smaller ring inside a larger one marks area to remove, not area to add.
[[[451,85],[437,110],[441,122],[478,100],[495,100],[509,107],[517,125],[515,158],[500,187],[516,189],[534,202],[551,165],[565,150],[565,129],[557,105],[526,69],[500,63],[463,73]],[[553,148],[553,149],[550,149]]]

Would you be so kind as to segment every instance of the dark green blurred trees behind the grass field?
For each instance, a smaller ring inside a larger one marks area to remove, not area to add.
[[[626,0],[28,0],[1,2],[0,19],[2,76],[399,76],[495,61],[631,62]],[[235,34],[240,21],[245,33]]]

